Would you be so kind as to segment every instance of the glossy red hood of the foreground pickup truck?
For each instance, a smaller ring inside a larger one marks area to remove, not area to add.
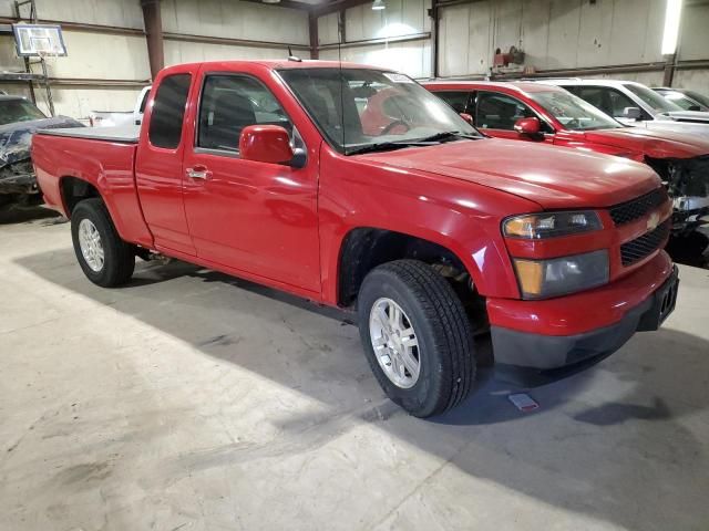
[[[378,165],[495,188],[545,209],[609,207],[660,186],[648,166],[633,160],[496,138],[360,157]]]

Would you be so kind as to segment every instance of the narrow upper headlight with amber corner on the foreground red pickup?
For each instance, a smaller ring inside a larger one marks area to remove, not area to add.
[[[515,216],[502,223],[503,233],[512,238],[537,240],[603,229],[593,210],[583,212],[540,212]]]

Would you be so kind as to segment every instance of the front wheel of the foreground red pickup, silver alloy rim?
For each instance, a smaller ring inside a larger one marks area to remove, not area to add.
[[[362,345],[382,389],[411,415],[460,404],[475,379],[470,322],[443,277],[417,260],[373,269],[358,296]]]

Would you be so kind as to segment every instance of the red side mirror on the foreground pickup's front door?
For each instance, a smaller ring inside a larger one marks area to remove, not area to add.
[[[244,160],[285,164],[301,168],[305,153],[290,147],[288,132],[279,125],[248,125],[239,136],[239,153]]]

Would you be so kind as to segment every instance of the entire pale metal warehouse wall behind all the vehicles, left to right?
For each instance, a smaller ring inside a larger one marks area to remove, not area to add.
[[[12,17],[12,0],[0,0],[0,17]],[[40,19],[99,24],[125,31],[64,28],[68,58],[51,61],[58,113],[85,118],[91,111],[130,111],[150,79],[140,0],[37,0]],[[387,0],[345,12],[345,44],[338,50],[340,14],[318,19],[321,59],[432,73],[431,0]],[[527,64],[542,70],[661,62],[665,0],[480,0],[440,8],[439,73],[485,74],[494,50],[522,48]],[[288,44],[309,56],[308,14],[302,10],[238,0],[163,0],[165,63],[219,59],[281,58]],[[686,0],[679,60],[709,61],[709,2]],[[257,41],[260,41],[257,42]],[[264,44],[263,41],[267,41]],[[709,88],[709,70],[696,65],[675,75],[676,86]],[[11,37],[0,37],[0,70],[22,70]],[[615,73],[660,84],[662,72]],[[78,85],[80,81],[89,80]],[[103,83],[92,83],[104,80]],[[25,85],[6,88],[27,93]],[[43,92],[37,91],[40,101]],[[42,103],[40,102],[42,106]],[[45,105],[44,105],[45,107]]]

